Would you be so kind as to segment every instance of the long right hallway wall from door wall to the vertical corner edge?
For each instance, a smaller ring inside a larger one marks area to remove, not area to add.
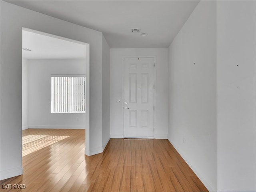
[[[169,47],[168,140],[216,191],[216,2],[201,1]]]

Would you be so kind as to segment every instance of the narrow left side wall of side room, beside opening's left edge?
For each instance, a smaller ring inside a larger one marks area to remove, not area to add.
[[[28,60],[22,58],[22,130],[28,129]]]

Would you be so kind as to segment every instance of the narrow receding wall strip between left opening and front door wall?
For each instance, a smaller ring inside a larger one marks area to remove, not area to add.
[[[110,48],[102,36],[102,146],[110,140]]]

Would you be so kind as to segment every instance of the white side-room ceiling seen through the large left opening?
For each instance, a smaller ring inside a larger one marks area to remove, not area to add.
[[[26,59],[84,59],[86,46],[22,30],[22,57]]]

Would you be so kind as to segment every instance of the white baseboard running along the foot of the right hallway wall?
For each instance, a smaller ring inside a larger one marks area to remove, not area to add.
[[[188,158],[186,158],[186,155],[184,153],[182,153],[182,151],[176,146],[176,144],[174,142],[171,142],[171,139],[168,138],[168,141],[172,144],[172,146],[174,146],[174,148],[176,149],[176,151],[180,154],[180,156],[184,159],[184,161],[188,164],[188,166],[194,171],[194,173],[196,174],[196,176],[201,180],[201,182],[204,184],[204,186],[209,190],[209,191],[217,191],[217,189],[214,189],[205,179],[204,177],[197,171],[196,167],[193,166],[193,164],[191,164],[188,160]]]

